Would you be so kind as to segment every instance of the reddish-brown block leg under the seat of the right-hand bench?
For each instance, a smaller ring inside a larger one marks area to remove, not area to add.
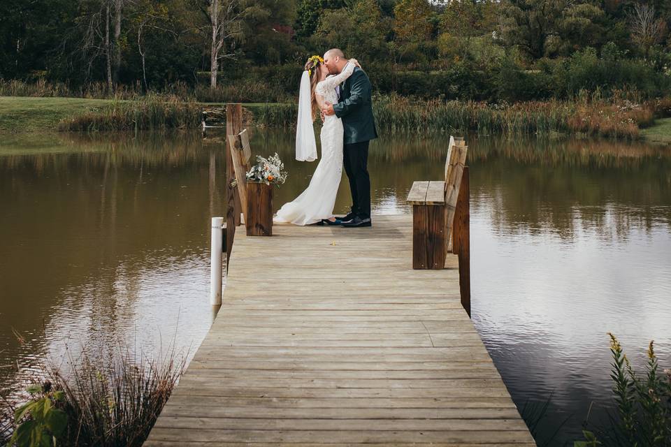
[[[444,205],[412,205],[412,268],[445,268]]]

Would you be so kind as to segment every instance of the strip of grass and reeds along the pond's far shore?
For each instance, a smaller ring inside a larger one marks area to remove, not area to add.
[[[200,126],[204,105],[179,96],[153,94],[132,100],[0,97],[0,132],[196,129]],[[389,95],[375,98],[374,112],[380,131],[481,135],[567,133],[626,139],[644,136],[663,141],[668,138],[671,124],[660,119],[658,125],[651,126],[658,114],[657,105],[600,98],[489,104],[420,101]],[[254,125],[290,128],[296,124],[297,110],[293,103],[244,106],[251,112]],[[651,127],[641,131],[647,126]]]

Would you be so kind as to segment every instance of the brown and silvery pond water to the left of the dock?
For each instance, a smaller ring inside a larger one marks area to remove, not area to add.
[[[29,371],[66,345],[197,346],[212,321],[203,265],[219,148],[198,135],[14,144],[0,147],[0,365]]]

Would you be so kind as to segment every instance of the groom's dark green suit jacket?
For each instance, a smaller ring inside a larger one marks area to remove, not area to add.
[[[333,111],[342,119],[346,145],[377,138],[370,90],[368,75],[359,67],[340,86],[340,99],[333,104]]]

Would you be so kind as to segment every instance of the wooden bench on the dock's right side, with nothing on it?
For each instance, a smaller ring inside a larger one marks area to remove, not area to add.
[[[450,138],[445,160],[445,180],[414,182],[410,188],[407,203],[412,205],[414,269],[445,268],[447,255],[450,252],[458,253],[461,241],[454,242],[454,237],[451,236],[454,233],[467,152],[468,147],[463,138]],[[468,175],[466,178],[468,182]],[[466,199],[468,200],[468,196]],[[460,230],[461,228],[459,226]]]

